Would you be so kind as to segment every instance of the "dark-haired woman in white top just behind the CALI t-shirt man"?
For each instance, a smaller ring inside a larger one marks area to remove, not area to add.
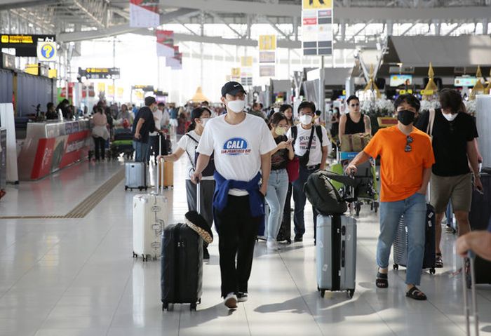
[[[199,140],[205,129],[206,122],[210,120],[211,112],[206,107],[198,107],[191,112],[191,124],[187,128],[187,133],[184,134],[179,142],[177,142],[177,149],[173,154],[162,156],[164,161],[175,162],[180,159],[182,154],[187,156],[186,166],[186,194],[187,194],[187,208],[189,211],[196,211],[196,184],[191,182],[191,175],[196,168],[196,147],[198,147]],[[210,227],[213,224],[213,191],[215,191],[215,180],[213,175],[203,176],[201,179],[201,215],[205,218]],[[210,259],[208,253],[208,245],[203,246],[203,258]]]

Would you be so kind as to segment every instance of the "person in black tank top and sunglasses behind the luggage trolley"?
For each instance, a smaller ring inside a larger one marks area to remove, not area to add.
[[[372,134],[370,117],[360,112],[360,100],[358,100],[358,97],[350,95],[347,104],[349,113],[343,114],[339,119],[339,140],[342,140],[342,136],[345,134]]]

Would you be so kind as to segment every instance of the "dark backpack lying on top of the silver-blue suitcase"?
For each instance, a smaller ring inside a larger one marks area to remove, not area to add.
[[[342,215],[348,210],[346,201],[329,180],[328,172],[319,170],[309,175],[304,184],[309,202],[322,215]]]

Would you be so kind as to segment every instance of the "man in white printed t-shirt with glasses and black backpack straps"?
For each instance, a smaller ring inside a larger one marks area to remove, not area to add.
[[[295,224],[295,241],[303,241],[303,235],[305,233],[304,208],[307,202],[304,184],[307,182],[307,178],[309,178],[311,173],[319,169],[325,169],[325,160],[330,152],[331,144],[324,126],[312,125],[312,118],[316,111],[316,105],[313,102],[302,102],[297,111],[300,124],[292,126],[286,136],[288,139],[293,139],[292,145],[295,156],[298,156],[300,159],[299,176],[293,182],[293,201],[295,202],[293,223]],[[312,207],[312,211],[314,213],[315,244],[318,212],[314,207]]]

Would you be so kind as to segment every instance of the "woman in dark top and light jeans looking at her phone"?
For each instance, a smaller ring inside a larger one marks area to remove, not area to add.
[[[270,250],[278,250],[276,237],[283,221],[283,208],[288,192],[286,166],[295,154],[292,142],[285,136],[288,128],[290,128],[286,117],[280,112],[273,114],[269,126],[277,146],[271,152],[271,175],[269,175],[265,197],[269,205],[269,218],[266,226],[267,247]]]

